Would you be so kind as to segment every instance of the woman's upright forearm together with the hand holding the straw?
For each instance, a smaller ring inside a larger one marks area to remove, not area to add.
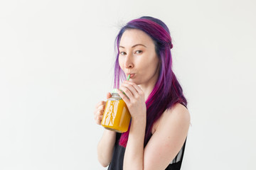
[[[124,81],[120,86],[126,96],[118,91],[127,104],[132,117],[127,147],[124,152],[123,169],[143,169],[144,136],[146,130],[146,103],[142,89],[130,81]]]

